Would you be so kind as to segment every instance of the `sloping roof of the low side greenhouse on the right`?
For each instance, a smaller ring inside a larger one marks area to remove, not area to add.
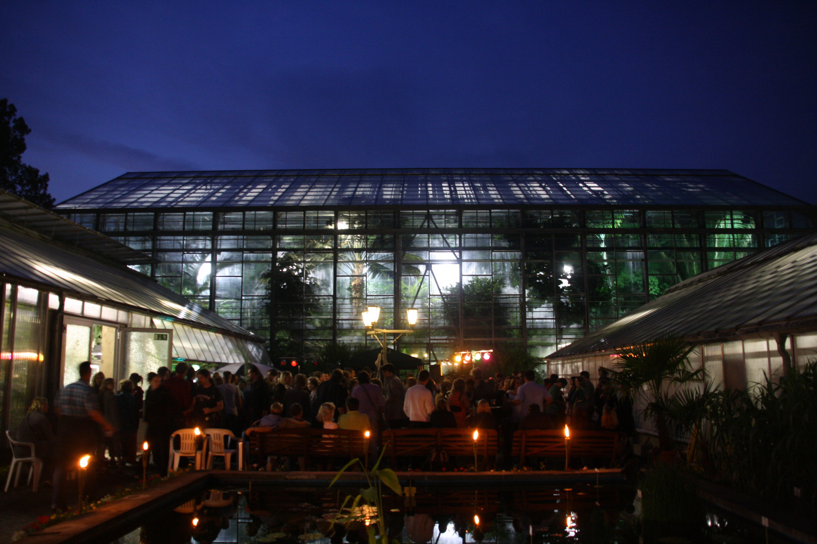
[[[806,326],[817,317],[817,233],[713,268],[547,359],[609,352],[681,334],[690,342]]]

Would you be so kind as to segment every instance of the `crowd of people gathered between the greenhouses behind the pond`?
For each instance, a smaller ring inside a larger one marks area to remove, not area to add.
[[[428,370],[405,374],[391,364],[370,369],[334,369],[310,375],[250,365],[248,376],[194,370],[185,362],[161,367],[143,378],[131,374],[116,383],[90,362],[79,365],[80,379],[57,396],[53,414],[38,397],[17,430],[18,440],[36,444],[44,461],[43,480],[53,474],[53,507],[65,506],[65,473],[83,454],[110,468],[136,462],[140,422],[145,440],[169,444],[181,428],[221,428],[248,436],[259,427],[316,427],[372,431],[379,448],[386,429],[462,427],[499,431],[504,442],[518,429],[605,428],[632,435],[632,404],[610,387],[604,369],[596,384],[582,372],[571,378],[552,374],[538,383],[531,369],[508,376],[469,375],[434,380]],[[51,416],[51,418],[49,418]],[[56,420],[56,433],[54,427]],[[167,447],[151,448],[158,472],[167,474]]]

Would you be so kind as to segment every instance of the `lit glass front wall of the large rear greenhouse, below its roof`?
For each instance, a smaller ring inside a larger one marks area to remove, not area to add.
[[[159,263],[145,272],[274,338],[276,355],[370,342],[360,312],[376,304],[386,328],[419,309],[402,347],[431,348],[437,358],[500,343],[547,355],[679,281],[812,228],[791,210],[637,206],[83,211],[73,219],[152,252]]]

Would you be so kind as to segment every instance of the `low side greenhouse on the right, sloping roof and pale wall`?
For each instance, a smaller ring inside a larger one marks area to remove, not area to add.
[[[600,367],[614,368],[617,350],[667,333],[695,347],[690,363],[720,387],[752,387],[817,360],[817,233],[672,286],[547,356],[548,370],[595,377]]]

